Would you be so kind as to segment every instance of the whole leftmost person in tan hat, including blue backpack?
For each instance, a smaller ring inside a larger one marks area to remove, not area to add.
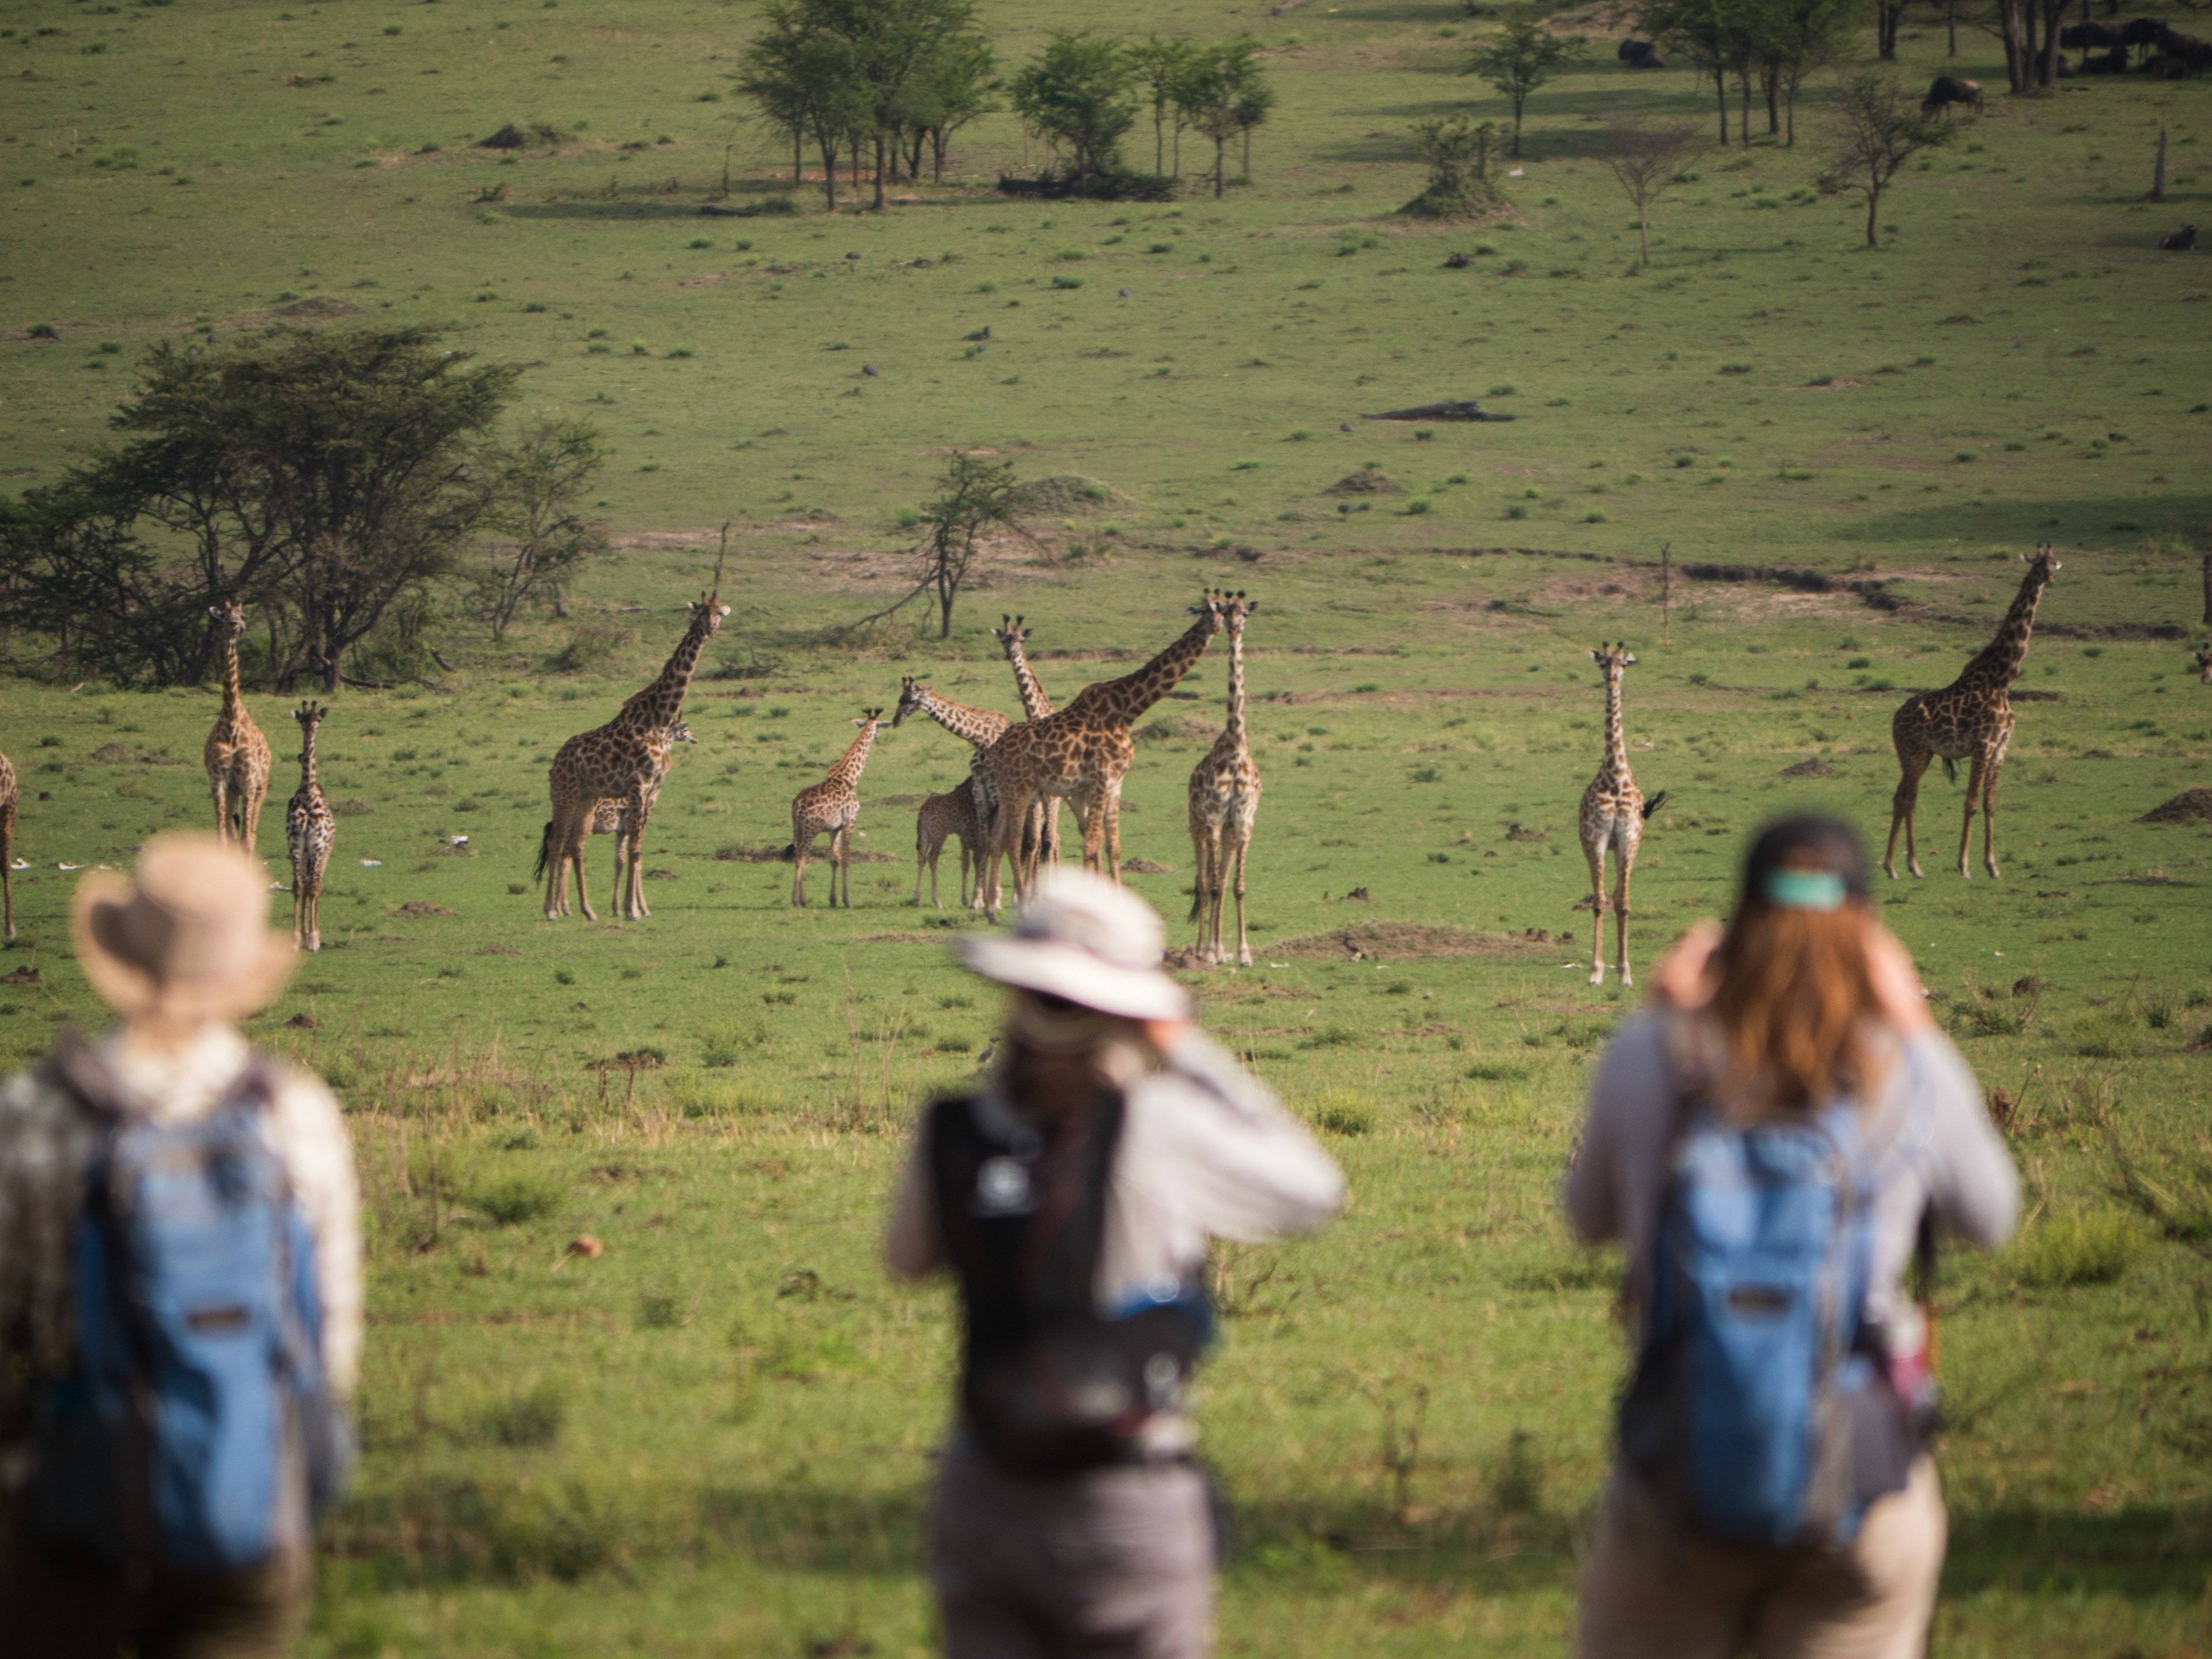
[[[0,1650],[274,1659],[345,1464],[361,1223],[338,1104],[237,1020],[292,973],[212,836],[86,876],[122,1015],[0,1086]]]

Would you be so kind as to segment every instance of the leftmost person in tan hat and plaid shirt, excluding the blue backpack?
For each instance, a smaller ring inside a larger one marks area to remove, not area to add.
[[[361,1354],[361,1197],[338,1102],[319,1079],[257,1057],[237,1022],[283,991],[294,951],[270,929],[268,869],[206,834],[155,836],[133,876],[88,874],[75,894],[77,964],[119,1022],[0,1084],[0,1630],[7,1650],[77,1655],[290,1652],[312,1562],[279,1551],[254,1571],[115,1566],[55,1546],[29,1517],[31,1400],[75,1365],[71,1254],[86,1172],[115,1121],[186,1126],[241,1099],[314,1239],[321,1371],[352,1394]]]

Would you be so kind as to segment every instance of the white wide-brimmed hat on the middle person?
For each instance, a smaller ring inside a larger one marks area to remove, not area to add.
[[[1011,933],[953,945],[987,980],[1079,1002],[1124,1020],[1188,1020],[1190,995],[1159,971],[1159,911],[1084,869],[1044,869]]]

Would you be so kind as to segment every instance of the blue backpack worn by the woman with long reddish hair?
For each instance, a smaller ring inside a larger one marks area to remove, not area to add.
[[[1681,1113],[1621,1460],[1705,1537],[1847,1544],[1920,1451],[1865,1316],[1878,1179],[1858,1110]]]

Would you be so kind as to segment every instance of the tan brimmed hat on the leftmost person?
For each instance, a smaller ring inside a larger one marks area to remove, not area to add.
[[[124,1018],[243,1020],[276,1000],[299,953],[270,925],[257,858],[215,836],[155,836],[133,878],[77,883],[77,964]]]

